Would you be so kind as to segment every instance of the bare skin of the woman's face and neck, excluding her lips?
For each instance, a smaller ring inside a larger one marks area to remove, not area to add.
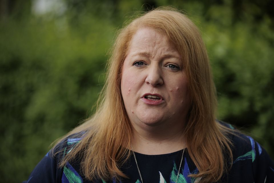
[[[165,35],[149,27],[133,35],[122,68],[121,91],[135,151],[163,154],[183,148],[190,106],[188,81],[181,56]],[[146,99],[146,94],[160,100]],[[165,150],[157,151],[159,145]]]

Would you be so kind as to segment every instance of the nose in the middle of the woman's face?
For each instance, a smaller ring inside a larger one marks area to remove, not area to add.
[[[150,65],[150,69],[147,70],[146,83],[155,87],[164,83],[162,78],[162,71],[158,65]]]

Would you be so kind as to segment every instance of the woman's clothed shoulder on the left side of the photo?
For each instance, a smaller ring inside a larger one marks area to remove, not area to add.
[[[73,148],[81,141],[82,133],[72,134],[61,140],[54,148],[52,148],[44,158],[35,166],[31,172],[29,179],[23,183],[32,182],[82,182],[82,177],[78,173],[80,170],[80,162],[67,162],[65,166],[60,167],[59,163],[66,154],[70,153]],[[70,180],[70,181],[69,181]]]

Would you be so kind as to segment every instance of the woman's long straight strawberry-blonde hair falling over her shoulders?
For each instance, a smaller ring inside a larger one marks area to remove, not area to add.
[[[118,32],[96,113],[59,141],[84,132],[82,140],[59,166],[80,156],[81,170],[90,180],[126,177],[119,167],[130,157],[133,133],[121,95],[121,68],[129,42],[141,27],[151,27],[166,35],[183,58],[192,99],[185,132],[189,155],[199,170],[190,176],[202,177],[201,182],[216,182],[232,162],[231,142],[226,135],[229,129],[215,121],[215,87],[198,28],[184,14],[167,7],[136,18]]]

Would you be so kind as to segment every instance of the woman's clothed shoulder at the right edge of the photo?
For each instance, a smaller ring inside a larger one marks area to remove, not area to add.
[[[265,149],[251,136],[241,133],[230,124],[219,123],[234,130],[229,134],[233,144],[231,147],[233,163],[229,174],[238,181],[274,182],[274,163]]]

